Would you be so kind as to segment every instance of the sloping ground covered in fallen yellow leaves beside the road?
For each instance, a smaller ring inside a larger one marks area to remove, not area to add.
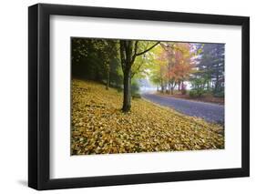
[[[133,99],[95,82],[72,81],[72,155],[224,148],[223,127]]]

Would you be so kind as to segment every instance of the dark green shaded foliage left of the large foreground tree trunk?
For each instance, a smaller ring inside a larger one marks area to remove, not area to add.
[[[109,87],[122,84],[116,40],[72,38],[71,60],[72,77],[108,82]]]

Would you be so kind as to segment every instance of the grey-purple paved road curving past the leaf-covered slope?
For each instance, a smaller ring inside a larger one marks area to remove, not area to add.
[[[210,122],[224,123],[224,106],[222,105],[179,99],[175,97],[161,97],[159,95],[149,93],[142,94],[142,97],[145,97],[149,101],[161,106],[172,107],[189,116],[202,117]]]

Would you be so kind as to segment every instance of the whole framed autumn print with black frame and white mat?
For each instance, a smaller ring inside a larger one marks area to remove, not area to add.
[[[28,8],[28,185],[250,174],[250,19]]]

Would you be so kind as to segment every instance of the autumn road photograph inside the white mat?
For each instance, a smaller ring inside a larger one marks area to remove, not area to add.
[[[224,149],[225,44],[71,37],[71,155]]]

